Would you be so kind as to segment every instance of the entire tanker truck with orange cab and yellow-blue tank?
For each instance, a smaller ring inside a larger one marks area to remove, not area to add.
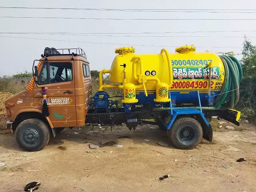
[[[85,52],[46,48],[34,60],[26,90],[5,102],[7,127],[27,151],[41,150],[65,127],[86,124],[112,128],[125,123],[130,130],[154,124],[180,149],[195,148],[202,138],[211,142],[212,116],[239,126],[240,112],[233,108],[242,67],[234,56],[195,51],[193,45],[157,54],[117,48],[111,68],[100,71],[98,92],[92,96]],[[104,74],[109,74],[110,84],[103,83]],[[122,90],[122,104],[106,89]]]

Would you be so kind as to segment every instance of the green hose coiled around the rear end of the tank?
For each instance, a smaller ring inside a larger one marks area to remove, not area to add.
[[[215,108],[234,108],[239,100],[239,83],[242,81],[242,66],[233,56],[220,56],[225,68],[225,79],[220,94],[215,98]]]

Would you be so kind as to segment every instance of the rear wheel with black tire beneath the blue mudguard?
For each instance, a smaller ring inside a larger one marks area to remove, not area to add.
[[[174,122],[168,132],[168,137],[177,148],[192,149],[201,142],[203,129],[197,120],[183,117]]]

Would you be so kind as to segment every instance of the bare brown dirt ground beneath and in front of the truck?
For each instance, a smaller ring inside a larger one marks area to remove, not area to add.
[[[23,151],[13,134],[2,132],[0,162],[5,165],[0,167],[0,191],[22,192],[33,181],[41,182],[37,192],[256,191],[252,124],[235,130],[216,128],[213,144],[203,141],[193,150],[175,148],[166,132],[152,125],[139,126],[135,132],[125,126],[114,126],[112,132],[110,127],[102,128],[65,129],[38,152]],[[90,149],[89,143],[95,141],[117,144]],[[246,161],[236,162],[239,158]],[[160,181],[166,174],[170,177]]]

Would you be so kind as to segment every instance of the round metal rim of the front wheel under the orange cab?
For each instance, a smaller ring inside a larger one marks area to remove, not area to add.
[[[39,132],[36,128],[29,127],[22,132],[22,140],[26,144],[33,146],[38,144],[40,140]]]

